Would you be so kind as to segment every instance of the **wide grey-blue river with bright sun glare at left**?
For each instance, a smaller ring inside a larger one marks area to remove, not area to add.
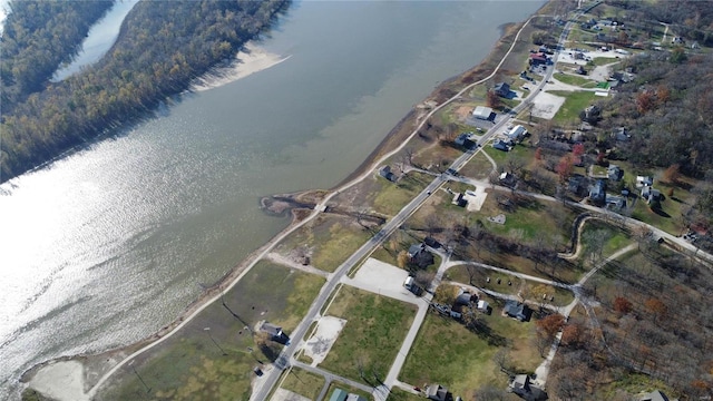
[[[2,184],[0,399],[173,321],[286,226],[261,196],[338,184],[543,3],[295,2],[256,42],[284,62]]]

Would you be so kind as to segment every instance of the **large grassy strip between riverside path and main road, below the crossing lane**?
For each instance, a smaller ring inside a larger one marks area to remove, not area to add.
[[[214,303],[180,333],[138,356],[131,368],[152,389],[153,399],[246,400],[253,368],[258,361],[270,362],[270,355],[262,353],[244,326],[268,320],[289,333],[323,283],[322,277],[261,262],[225,296],[236,316]],[[117,385],[99,398],[145,399],[146,388],[125,368]]]

